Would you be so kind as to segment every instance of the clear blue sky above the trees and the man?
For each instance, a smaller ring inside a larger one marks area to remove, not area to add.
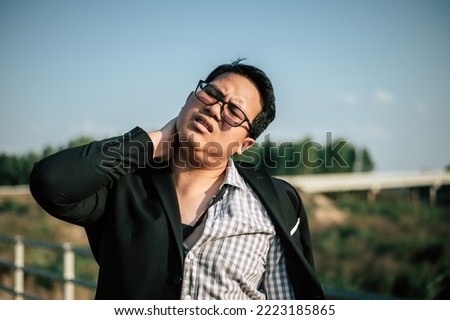
[[[245,57],[275,87],[272,140],[450,164],[450,1],[0,0],[0,46],[0,152],[159,128]]]

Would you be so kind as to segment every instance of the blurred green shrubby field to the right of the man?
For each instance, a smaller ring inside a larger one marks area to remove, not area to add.
[[[332,203],[340,215],[328,224],[318,220],[317,206],[310,208],[325,286],[402,299],[450,298],[448,291],[443,296],[450,279],[449,208],[401,198],[370,205],[349,194]]]

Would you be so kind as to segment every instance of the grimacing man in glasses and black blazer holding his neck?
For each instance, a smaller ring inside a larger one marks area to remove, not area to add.
[[[35,199],[86,229],[97,299],[324,297],[295,189],[231,160],[274,116],[268,77],[236,61],[200,81],[161,130],[35,165]]]

